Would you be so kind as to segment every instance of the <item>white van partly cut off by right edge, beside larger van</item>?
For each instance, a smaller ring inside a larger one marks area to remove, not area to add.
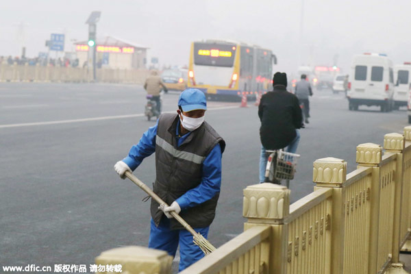
[[[394,103],[395,108],[407,105],[408,90],[410,88],[411,62],[405,62],[394,66],[395,88]]]

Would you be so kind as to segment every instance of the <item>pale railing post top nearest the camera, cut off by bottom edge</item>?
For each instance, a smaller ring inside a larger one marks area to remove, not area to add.
[[[172,262],[173,258],[166,251],[130,246],[103,251],[93,267],[97,268],[97,273],[171,274]],[[116,271],[108,270],[109,267]]]

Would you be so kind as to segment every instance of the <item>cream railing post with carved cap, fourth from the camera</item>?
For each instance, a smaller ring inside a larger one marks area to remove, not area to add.
[[[369,238],[369,273],[379,271],[377,265],[378,256],[378,232],[379,232],[379,163],[382,161],[382,147],[371,142],[357,146],[356,162],[358,167],[372,166],[372,182],[367,199],[371,200],[370,212],[370,238]]]

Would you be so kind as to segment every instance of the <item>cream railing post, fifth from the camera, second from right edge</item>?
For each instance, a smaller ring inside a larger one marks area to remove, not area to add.
[[[405,138],[401,134],[390,133],[384,136],[384,149],[388,153],[397,153],[395,169],[395,198],[394,198],[394,223],[393,223],[393,258],[387,273],[407,273],[403,264],[399,262],[401,249],[401,205],[403,190],[403,149]],[[402,220],[406,221],[406,220]]]

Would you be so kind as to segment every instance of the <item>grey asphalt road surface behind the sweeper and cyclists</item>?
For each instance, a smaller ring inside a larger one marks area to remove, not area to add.
[[[163,96],[177,109],[179,92]],[[91,264],[107,249],[147,246],[149,202],[119,179],[113,166],[154,121],[143,116],[141,86],[101,84],[0,84],[0,265]],[[258,184],[257,107],[209,102],[206,121],[227,142],[223,182],[209,240],[219,247],[242,232],[242,190]],[[336,157],[356,169],[356,145],[382,144],[402,132],[405,110],[350,112],[330,91],[311,99],[310,124],[301,129],[292,201],[312,192],[312,162]],[[134,174],[151,186],[154,157]]]

